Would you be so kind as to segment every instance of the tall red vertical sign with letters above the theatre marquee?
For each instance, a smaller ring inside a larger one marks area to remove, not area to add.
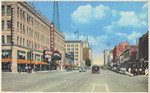
[[[54,24],[51,23],[51,26],[50,26],[50,47],[51,47],[51,50],[54,49]]]

